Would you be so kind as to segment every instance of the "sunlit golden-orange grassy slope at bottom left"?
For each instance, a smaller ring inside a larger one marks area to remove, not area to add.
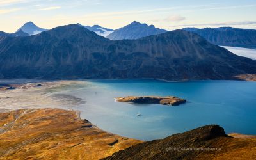
[[[0,113],[0,159],[101,159],[138,143],[102,131],[75,111]]]

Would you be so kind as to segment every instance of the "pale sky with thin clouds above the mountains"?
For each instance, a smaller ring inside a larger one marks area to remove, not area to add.
[[[80,23],[118,29],[132,21],[166,30],[256,29],[256,0],[0,0],[0,31],[32,21],[41,28]]]

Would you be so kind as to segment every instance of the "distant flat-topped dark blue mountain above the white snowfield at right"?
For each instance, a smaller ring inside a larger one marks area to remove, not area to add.
[[[212,44],[256,49],[256,30],[240,28],[184,28],[196,33]]]

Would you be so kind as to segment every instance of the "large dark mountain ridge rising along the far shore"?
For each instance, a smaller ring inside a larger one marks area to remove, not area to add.
[[[112,41],[71,24],[0,41],[0,78],[234,79],[256,74],[256,61],[201,36],[176,30]]]

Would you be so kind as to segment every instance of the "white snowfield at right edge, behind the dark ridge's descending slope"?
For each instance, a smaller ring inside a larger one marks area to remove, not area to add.
[[[237,56],[243,56],[247,58],[251,58],[253,60],[256,60],[256,49],[248,49],[248,48],[240,48],[240,47],[227,47],[227,46],[221,46],[228,51],[236,54]]]

